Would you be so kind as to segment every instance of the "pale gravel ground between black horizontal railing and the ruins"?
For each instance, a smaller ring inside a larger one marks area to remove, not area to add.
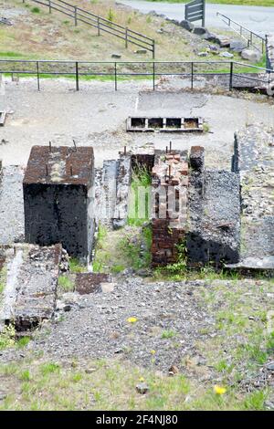
[[[76,93],[72,80],[44,79],[41,91],[37,92],[35,79],[16,83],[5,78],[0,110],[14,113],[8,115],[1,130],[1,140],[8,142],[0,145],[0,159],[5,165],[26,165],[34,144],[53,141],[53,144],[71,145],[75,139],[79,145],[94,147],[96,164],[100,166],[103,160],[116,159],[124,145],[152,141],[156,148],[164,149],[173,140],[174,149],[205,145],[207,166],[229,169],[234,132],[254,120],[273,125],[271,104],[257,103],[256,99],[183,92],[182,79],[176,82],[178,86],[172,87],[173,92],[169,82],[164,81],[154,93],[151,81],[121,82],[117,92],[112,82],[80,82],[80,91]],[[126,118],[137,113],[201,116],[210,132],[203,135],[126,133]]]

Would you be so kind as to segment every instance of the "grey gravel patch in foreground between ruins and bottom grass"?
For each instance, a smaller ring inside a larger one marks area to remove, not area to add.
[[[174,364],[180,366],[183,356],[195,354],[199,331],[213,323],[195,298],[195,288],[202,284],[125,277],[112,292],[65,294],[58,300],[56,323],[49,333],[48,324],[37,332],[31,349],[43,350],[45,358],[57,361],[119,354],[137,365],[168,371]],[[127,321],[131,317],[138,319],[136,323]],[[4,361],[15,359],[15,352],[2,353]]]

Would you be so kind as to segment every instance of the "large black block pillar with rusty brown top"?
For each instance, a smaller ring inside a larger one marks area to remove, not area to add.
[[[91,147],[34,146],[23,181],[26,242],[87,261],[94,234]]]

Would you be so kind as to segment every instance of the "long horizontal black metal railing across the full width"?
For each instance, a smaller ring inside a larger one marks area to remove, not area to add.
[[[221,68],[221,69],[220,69]],[[226,69],[224,69],[226,68]],[[247,72],[250,70],[250,73]],[[243,71],[244,70],[244,71]],[[248,82],[254,86],[267,88],[274,78],[274,71],[258,66],[247,65],[237,61],[75,61],[75,60],[34,60],[34,59],[0,59],[0,73],[11,75],[35,76],[37,89],[40,89],[41,78],[64,76],[75,79],[76,90],[79,90],[80,78],[112,78],[115,90],[119,78],[143,77],[153,78],[155,89],[156,78],[164,76],[184,77],[189,79],[190,88],[194,89],[195,78],[200,76],[224,77],[223,85],[232,90]],[[237,85],[236,85],[237,84]]]

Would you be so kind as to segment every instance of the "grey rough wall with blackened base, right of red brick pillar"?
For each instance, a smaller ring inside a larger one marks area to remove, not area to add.
[[[237,173],[205,170],[204,148],[190,153],[189,231],[191,267],[239,259],[239,178]]]

